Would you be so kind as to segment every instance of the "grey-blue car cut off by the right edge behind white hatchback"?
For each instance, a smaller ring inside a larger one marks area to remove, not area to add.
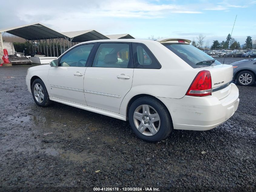
[[[256,78],[256,58],[244,59],[231,63],[234,68],[233,79],[239,85],[250,86],[255,82]]]

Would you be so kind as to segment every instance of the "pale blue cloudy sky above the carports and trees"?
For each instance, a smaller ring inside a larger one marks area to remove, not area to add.
[[[255,8],[255,0],[4,1],[0,29],[40,22],[59,32],[95,29],[140,39],[192,40],[201,33],[211,45],[231,33],[237,15],[232,36],[244,44],[247,35],[256,39]]]

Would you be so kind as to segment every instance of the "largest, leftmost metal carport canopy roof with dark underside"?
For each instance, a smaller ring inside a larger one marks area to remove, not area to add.
[[[0,29],[0,32],[7,32],[27,40],[55,39],[66,37],[62,33],[50,29],[49,27],[46,27],[40,23],[22,25],[9,29]]]

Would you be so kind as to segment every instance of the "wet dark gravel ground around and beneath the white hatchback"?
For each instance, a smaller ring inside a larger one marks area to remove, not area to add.
[[[256,85],[238,86],[238,110],[217,128],[174,130],[147,143],[128,122],[60,103],[37,106],[28,67],[0,68],[0,190],[255,191]]]

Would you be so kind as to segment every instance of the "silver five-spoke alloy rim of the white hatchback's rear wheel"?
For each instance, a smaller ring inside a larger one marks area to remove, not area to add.
[[[160,128],[160,116],[149,105],[140,105],[135,109],[133,122],[138,131],[146,136],[155,135]]]

